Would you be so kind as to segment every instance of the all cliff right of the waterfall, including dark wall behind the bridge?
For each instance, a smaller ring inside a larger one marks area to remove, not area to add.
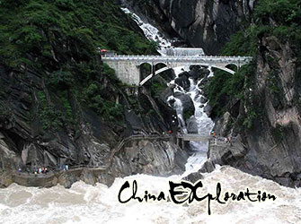
[[[300,5],[290,0],[153,0],[130,5],[190,47],[203,47],[207,54],[254,57],[235,76],[216,73],[208,88],[215,131],[232,136],[233,145],[212,145],[203,170],[231,165],[282,185],[300,186]]]

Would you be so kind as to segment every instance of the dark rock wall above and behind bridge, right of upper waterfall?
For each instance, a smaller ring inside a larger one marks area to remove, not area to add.
[[[167,33],[176,33],[190,47],[217,55],[243,22],[250,20],[254,0],[153,0],[147,4],[125,1],[146,14]]]

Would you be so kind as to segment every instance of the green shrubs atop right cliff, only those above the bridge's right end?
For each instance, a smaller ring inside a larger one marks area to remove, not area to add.
[[[288,41],[296,50],[301,47],[301,7],[298,0],[259,0],[251,26],[238,31],[224,47],[224,56],[256,56],[259,40],[273,35]]]

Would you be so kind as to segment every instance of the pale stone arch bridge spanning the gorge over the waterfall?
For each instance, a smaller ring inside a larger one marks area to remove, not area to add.
[[[236,65],[239,69],[248,64],[251,56],[114,56],[104,55],[102,61],[115,70],[118,78],[125,83],[143,85],[152,77],[164,71],[183,66],[201,65],[214,67],[234,74],[228,65]],[[142,79],[140,75],[141,65],[151,65],[151,73]],[[155,71],[155,65],[165,65],[164,68]]]

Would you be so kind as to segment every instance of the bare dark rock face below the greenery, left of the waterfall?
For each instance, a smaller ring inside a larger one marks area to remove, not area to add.
[[[121,124],[108,122],[93,110],[70,99],[72,113],[77,113],[80,117],[79,124],[75,125],[78,130],[71,125],[56,130],[43,127],[43,116],[35,113],[43,107],[40,92],[47,92],[49,101],[58,100],[55,92],[43,83],[44,79],[40,73],[32,71],[17,73],[5,68],[4,65],[0,66],[1,186],[13,182],[12,175],[18,168],[22,168],[22,173],[25,170],[32,173],[36,168],[47,167],[49,170],[58,170],[62,165],[68,165],[69,168],[107,167],[99,174],[89,169],[80,170],[57,176],[46,183],[47,185],[60,183],[66,187],[80,179],[90,184],[99,181],[111,185],[115,177],[125,177],[132,173],[165,176],[184,169],[183,163],[187,159],[187,154],[173,141],[158,139],[144,143],[136,142],[134,146],[130,146],[128,142],[119,153],[115,152],[119,142],[125,137],[133,134],[162,134],[171,129],[169,124],[172,123],[175,112],[171,108],[168,110],[159,107],[160,102],[153,99],[147,90],[130,88],[120,96],[116,96],[124,108],[124,119]],[[128,99],[136,100],[139,105],[131,106]],[[59,104],[56,107],[59,107]],[[137,110],[146,115],[137,114]],[[147,111],[152,113],[147,114]],[[32,116],[33,114],[37,116]],[[136,154],[131,151],[136,151]],[[133,153],[135,155],[131,155]],[[135,163],[137,155],[138,163]],[[129,157],[134,160],[128,159]],[[44,185],[44,182],[26,178],[25,180],[20,183]]]

